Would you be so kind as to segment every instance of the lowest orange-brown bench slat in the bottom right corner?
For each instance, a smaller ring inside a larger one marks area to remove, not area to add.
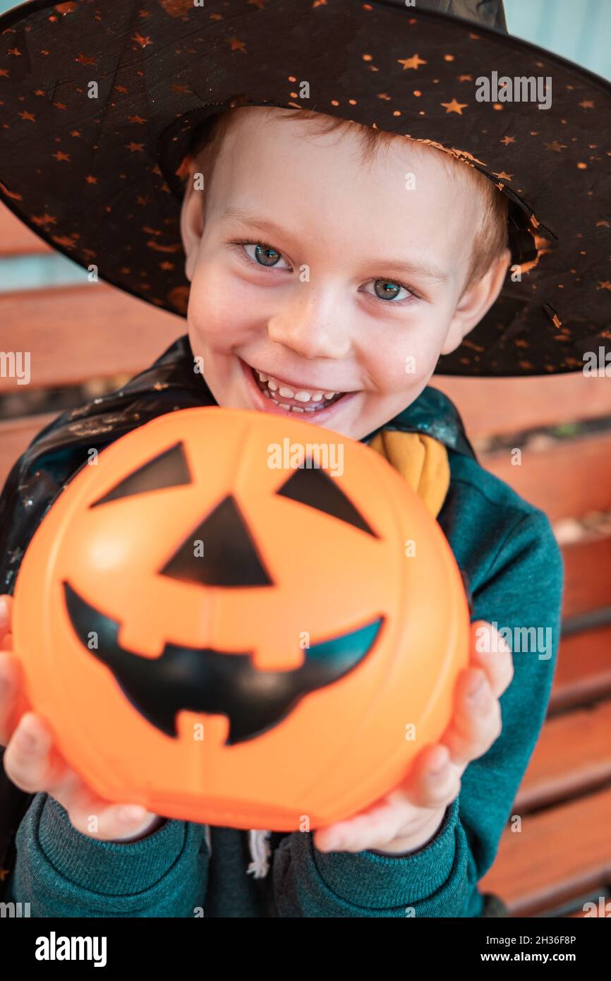
[[[503,832],[480,890],[502,897],[514,916],[544,912],[589,890],[604,895],[611,875],[609,827],[611,790],[527,814],[520,832]]]

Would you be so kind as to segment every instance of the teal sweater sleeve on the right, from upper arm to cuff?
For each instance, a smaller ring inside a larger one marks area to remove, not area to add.
[[[545,718],[563,578],[547,516],[539,510],[522,515],[473,594],[472,622],[495,624],[513,652],[514,678],[500,698],[501,735],[466,768],[459,797],[418,852],[319,852],[310,833],[287,835],[274,861],[272,915],[481,915],[477,883],[494,861]]]

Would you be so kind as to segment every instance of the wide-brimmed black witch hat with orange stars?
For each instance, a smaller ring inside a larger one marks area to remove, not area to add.
[[[1,199],[185,316],[184,161],[236,97],[409,135],[507,195],[513,270],[437,374],[611,356],[611,85],[509,35],[500,0],[32,0],[0,18]]]

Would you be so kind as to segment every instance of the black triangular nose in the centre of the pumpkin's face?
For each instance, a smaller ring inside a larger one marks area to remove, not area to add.
[[[195,542],[203,543],[203,555]],[[233,497],[193,529],[160,575],[198,586],[273,586]]]

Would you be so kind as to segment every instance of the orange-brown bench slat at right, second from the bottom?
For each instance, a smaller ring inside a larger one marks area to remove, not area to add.
[[[546,720],[514,803],[517,814],[611,780],[611,699]]]

